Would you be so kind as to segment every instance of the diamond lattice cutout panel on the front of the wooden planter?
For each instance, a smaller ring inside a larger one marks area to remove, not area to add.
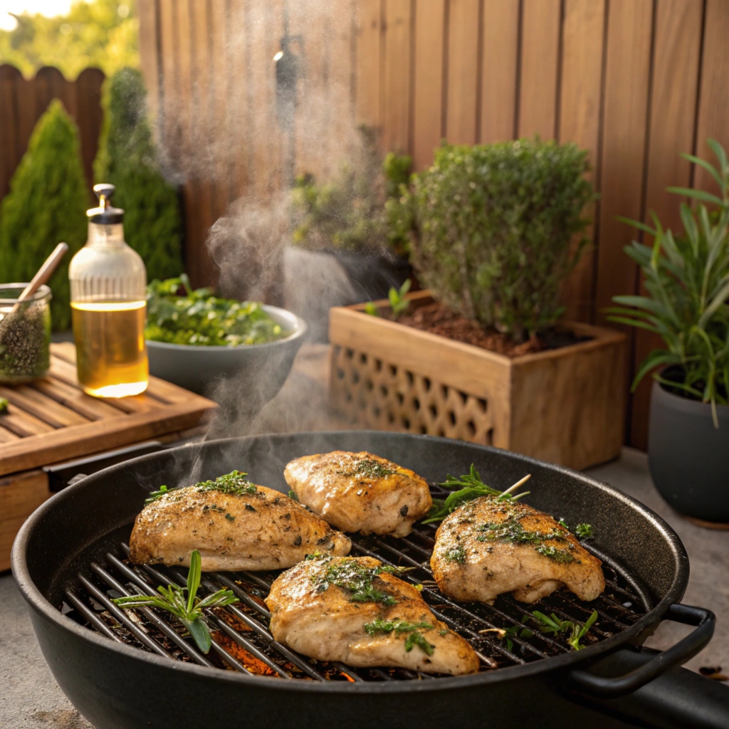
[[[332,405],[352,424],[491,445],[494,422],[480,397],[364,352],[332,348]]]

